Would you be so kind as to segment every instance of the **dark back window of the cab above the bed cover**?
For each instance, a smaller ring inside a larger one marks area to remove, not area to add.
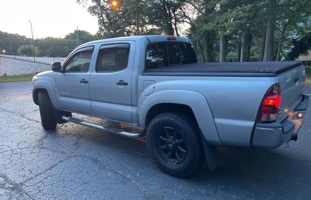
[[[145,70],[196,62],[198,62],[196,54],[190,43],[156,43],[147,48]]]

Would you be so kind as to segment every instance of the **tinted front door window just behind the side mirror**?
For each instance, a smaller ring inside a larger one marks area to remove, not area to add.
[[[66,72],[88,72],[93,50],[80,51],[72,55],[66,62]]]

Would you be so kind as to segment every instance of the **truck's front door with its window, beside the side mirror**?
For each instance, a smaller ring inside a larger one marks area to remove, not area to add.
[[[88,85],[93,52],[91,46],[73,53],[64,63],[64,72],[57,74],[56,98],[61,109],[92,114]]]

